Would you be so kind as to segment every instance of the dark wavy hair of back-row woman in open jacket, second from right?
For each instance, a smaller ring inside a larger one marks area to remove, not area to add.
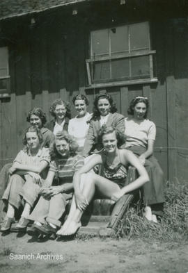
[[[97,94],[95,97],[95,100],[93,102],[93,117],[91,119],[96,119],[97,117],[100,117],[100,111],[98,110],[98,101],[100,99],[107,99],[110,104],[110,113],[117,112],[116,104],[113,102],[113,99],[110,94]]]

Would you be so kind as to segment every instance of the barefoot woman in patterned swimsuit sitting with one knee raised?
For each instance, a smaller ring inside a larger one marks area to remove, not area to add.
[[[119,149],[125,143],[123,133],[111,126],[102,126],[98,142],[102,144],[103,151],[93,155],[91,160],[75,173],[73,179],[75,196],[72,199],[68,219],[57,232],[58,235],[71,235],[79,229],[81,215],[96,191],[102,198],[118,201],[123,195],[149,181],[146,169],[132,151]],[[97,164],[101,165],[100,175],[89,172]],[[125,186],[129,165],[136,167],[139,178]]]

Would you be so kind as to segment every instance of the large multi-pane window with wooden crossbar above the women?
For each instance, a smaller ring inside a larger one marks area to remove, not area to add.
[[[155,53],[150,48],[148,22],[92,31],[90,59],[86,60],[88,83],[151,81]]]

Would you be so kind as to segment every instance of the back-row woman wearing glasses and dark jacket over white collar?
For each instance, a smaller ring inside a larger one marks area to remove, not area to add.
[[[52,102],[49,113],[54,117],[47,123],[46,127],[56,135],[59,131],[68,131],[70,120],[70,103],[62,99],[56,99]]]

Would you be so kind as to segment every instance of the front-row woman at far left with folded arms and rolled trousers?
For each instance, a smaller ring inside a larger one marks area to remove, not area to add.
[[[28,224],[26,219],[36,201],[42,185],[42,178],[47,174],[50,157],[49,150],[41,147],[42,133],[36,126],[26,129],[24,134],[24,149],[19,151],[13,166],[9,169],[10,183],[3,194],[3,201],[8,202],[6,217],[1,224],[1,232],[10,230],[14,220],[15,209],[19,209],[24,200],[24,210],[17,228],[24,229]],[[46,171],[46,172],[45,172]]]

